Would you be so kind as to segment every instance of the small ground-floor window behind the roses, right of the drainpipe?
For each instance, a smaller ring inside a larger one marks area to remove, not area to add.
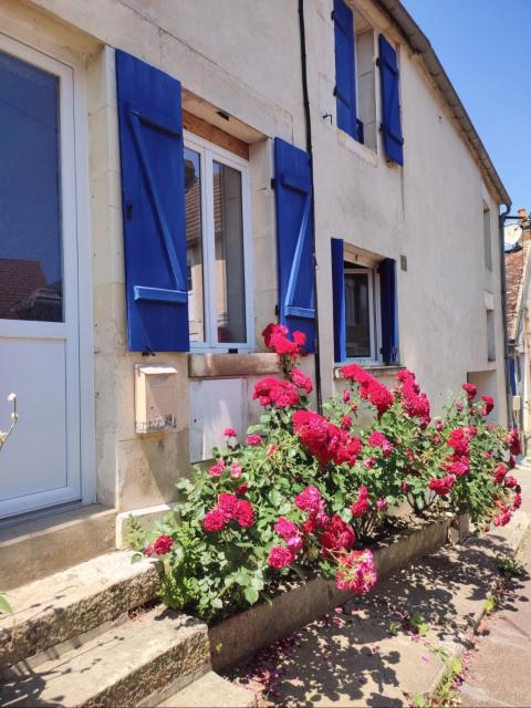
[[[376,303],[378,274],[371,268],[345,263],[345,341],[346,357],[377,362],[379,360]]]

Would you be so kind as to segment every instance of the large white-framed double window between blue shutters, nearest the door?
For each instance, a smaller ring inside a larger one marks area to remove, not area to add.
[[[190,344],[249,350],[248,163],[185,134],[186,243]]]

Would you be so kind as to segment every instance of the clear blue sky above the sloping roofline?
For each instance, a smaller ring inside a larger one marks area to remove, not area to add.
[[[531,0],[402,0],[512,198],[531,210]]]

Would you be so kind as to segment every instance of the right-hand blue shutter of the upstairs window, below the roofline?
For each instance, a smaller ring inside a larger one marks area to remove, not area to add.
[[[399,73],[396,52],[383,34],[378,38],[378,45],[382,86],[382,134],[385,153],[393,162],[404,165],[404,137],[402,135],[398,94]]]

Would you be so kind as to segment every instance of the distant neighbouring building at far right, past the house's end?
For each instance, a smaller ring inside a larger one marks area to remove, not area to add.
[[[506,227],[507,330],[511,423],[523,433],[524,451],[531,437],[531,222],[525,209]]]

